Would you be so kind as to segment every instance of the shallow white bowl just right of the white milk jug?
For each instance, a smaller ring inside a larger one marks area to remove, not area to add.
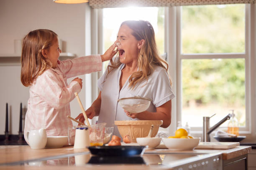
[[[67,145],[67,136],[47,136],[47,143],[45,148],[61,148]]]

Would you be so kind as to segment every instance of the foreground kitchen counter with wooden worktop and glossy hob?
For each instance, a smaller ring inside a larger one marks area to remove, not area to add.
[[[228,150],[191,150],[191,151],[172,151],[169,149],[146,149],[143,154],[143,159],[146,163],[141,164],[101,164],[95,166],[93,164],[87,164],[91,155],[88,149],[77,149],[73,147],[63,148],[46,148],[33,150],[29,146],[0,146],[0,169],[45,169],[48,170],[66,170],[66,169],[108,169],[111,166],[111,170],[120,168],[123,169],[175,169],[183,164],[191,168],[208,164],[207,159],[212,159],[219,164],[238,158],[242,155],[247,155],[251,152],[250,146],[239,146]],[[84,163],[77,165],[78,158]],[[221,169],[220,165],[212,164],[209,167],[216,166],[216,169]],[[191,164],[191,165],[190,165]],[[18,165],[18,166],[17,166]],[[131,167],[132,166],[132,167]],[[206,166],[206,165],[204,165]]]

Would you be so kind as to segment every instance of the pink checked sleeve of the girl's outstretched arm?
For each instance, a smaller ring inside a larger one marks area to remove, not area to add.
[[[70,78],[100,71],[102,69],[102,60],[100,55],[88,55],[84,57],[77,57],[73,60],[68,59],[61,61],[58,67],[61,72],[67,76],[67,78]]]

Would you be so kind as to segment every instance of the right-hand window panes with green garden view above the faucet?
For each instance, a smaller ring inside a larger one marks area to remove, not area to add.
[[[202,117],[216,113],[212,126],[234,110],[240,128],[248,127],[246,5],[183,6],[178,11],[182,125],[202,127]]]

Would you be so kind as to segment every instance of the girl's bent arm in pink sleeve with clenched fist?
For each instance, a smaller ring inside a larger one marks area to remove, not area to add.
[[[61,86],[61,83],[63,82],[59,77],[47,72],[47,74],[38,77],[32,92],[54,109],[60,109],[74,99],[74,92],[79,93],[81,91],[81,87],[76,81],[72,81],[67,87]]]

